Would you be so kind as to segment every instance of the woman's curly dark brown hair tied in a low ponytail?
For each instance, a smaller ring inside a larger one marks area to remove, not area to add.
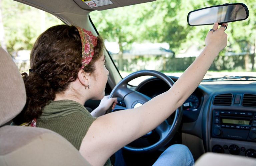
[[[95,70],[95,61],[103,53],[104,43],[97,37],[92,61],[83,68],[88,73]],[[42,114],[42,108],[56,93],[65,91],[77,79],[82,67],[82,44],[75,26],[58,25],[43,32],[30,54],[29,73],[22,73],[27,102],[22,112],[14,118],[15,124],[30,122]]]

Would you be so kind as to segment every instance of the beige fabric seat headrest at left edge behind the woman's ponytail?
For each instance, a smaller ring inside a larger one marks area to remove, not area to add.
[[[0,47],[0,126],[17,116],[26,104],[23,79],[16,64]]]

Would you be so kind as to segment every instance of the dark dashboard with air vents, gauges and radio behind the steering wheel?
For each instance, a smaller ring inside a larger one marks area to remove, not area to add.
[[[170,77],[174,82],[178,79]],[[164,81],[155,77],[135,88],[150,98],[168,89]],[[205,152],[256,158],[255,81],[200,84],[183,108],[182,143],[189,147],[195,160]]]

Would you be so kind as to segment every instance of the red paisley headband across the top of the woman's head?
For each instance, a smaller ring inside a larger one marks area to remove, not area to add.
[[[79,32],[81,42],[82,42],[82,67],[83,69],[90,61],[94,55],[94,47],[97,45],[97,37],[94,36],[90,31],[83,28],[75,26]]]

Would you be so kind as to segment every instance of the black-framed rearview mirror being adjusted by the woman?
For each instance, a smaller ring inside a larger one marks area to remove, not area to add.
[[[249,10],[243,3],[223,4],[197,9],[188,13],[190,26],[210,25],[241,21],[247,19]]]

